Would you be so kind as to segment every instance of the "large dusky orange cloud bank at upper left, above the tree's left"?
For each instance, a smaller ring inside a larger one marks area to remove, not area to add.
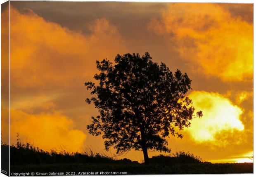
[[[90,24],[90,34],[83,35],[46,21],[30,9],[21,13],[12,7],[10,14],[13,90],[83,85],[86,77],[94,75],[96,60],[114,59],[126,50],[118,29],[104,18]]]

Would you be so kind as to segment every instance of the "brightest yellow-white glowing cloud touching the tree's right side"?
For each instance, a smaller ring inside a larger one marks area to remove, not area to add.
[[[239,120],[242,109],[221,94],[204,91],[193,91],[189,95],[195,111],[203,111],[203,118],[192,119],[187,128],[196,142],[212,142],[219,139],[221,132],[230,134],[233,130],[242,131],[244,125]],[[224,138],[227,137],[226,135]],[[222,144],[224,145],[224,144]]]

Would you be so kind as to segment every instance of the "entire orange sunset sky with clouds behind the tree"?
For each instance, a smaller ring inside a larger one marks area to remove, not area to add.
[[[116,155],[86,130],[97,109],[83,86],[96,60],[149,52],[192,80],[195,112],[171,153],[205,161],[250,162],[253,155],[253,5],[139,2],[10,2],[10,139],[19,133],[50,151]],[[1,18],[6,17],[2,11]],[[3,27],[2,27],[3,28]],[[3,28],[2,36],[8,36]],[[2,110],[5,108],[2,108]],[[159,155],[150,151],[149,157]]]

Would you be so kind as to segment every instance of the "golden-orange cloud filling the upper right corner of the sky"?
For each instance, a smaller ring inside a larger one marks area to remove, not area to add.
[[[168,35],[172,47],[197,72],[223,81],[253,77],[253,24],[209,3],[172,3],[149,28]]]

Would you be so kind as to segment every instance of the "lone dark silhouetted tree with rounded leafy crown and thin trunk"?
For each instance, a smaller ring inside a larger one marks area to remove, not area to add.
[[[117,55],[115,65],[109,60],[96,61],[98,85],[86,82],[100,115],[87,125],[92,135],[102,135],[105,149],[113,146],[117,153],[142,150],[149,163],[149,149],[170,152],[166,137],[177,135],[190,126],[194,107],[186,97],[191,89],[187,74],[174,74],[166,64],[152,61],[149,53]],[[201,117],[202,112],[197,113]]]

